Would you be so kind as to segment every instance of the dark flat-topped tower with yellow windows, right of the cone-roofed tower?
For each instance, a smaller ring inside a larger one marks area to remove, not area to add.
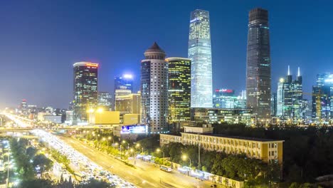
[[[169,122],[191,119],[191,60],[166,58],[169,67]]]

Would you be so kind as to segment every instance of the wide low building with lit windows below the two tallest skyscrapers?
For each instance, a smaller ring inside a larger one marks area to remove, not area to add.
[[[228,122],[231,124],[253,125],[256,118],[251,109],[191,108],[191,120],[206,123]]]

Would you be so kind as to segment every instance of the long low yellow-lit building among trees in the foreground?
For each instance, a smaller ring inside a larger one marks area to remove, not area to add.
[[[188,130],[194,131],[194,129]],[[203,150],[245,154],[248,157],[263,160],[264,162],[277,160],[279,164],[282,164],[284,140],[214,135],[211,133],[201,134],[199,132],[181,132],[181,135],[160,134],[159,145],[163,146],[170,142],[179,142],[183,145],[200,145]]]

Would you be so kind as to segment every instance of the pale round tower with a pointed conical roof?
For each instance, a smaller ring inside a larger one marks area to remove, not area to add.
[[[142,122],[149,134],[168,132],[168,64],[165,52],[154,43],[141,61]]]

